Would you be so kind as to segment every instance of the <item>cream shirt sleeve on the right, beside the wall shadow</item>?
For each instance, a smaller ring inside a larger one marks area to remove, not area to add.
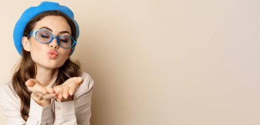
[[[74,100],[68,102],[55,101],[54,124],[90,125],[91,97],[94,85],[89,74],[83,72],[83,83],[74,94]]]

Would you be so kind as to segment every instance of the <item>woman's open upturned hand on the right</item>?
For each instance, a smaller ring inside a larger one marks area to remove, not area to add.
[[[73,94],[75,94],[79,85],[83,83],[81,77],[72,77],[67,79],[62,85],[53,87],[54,92],[57,94],[56,100],[59,102],[66,102],[73,100]]]

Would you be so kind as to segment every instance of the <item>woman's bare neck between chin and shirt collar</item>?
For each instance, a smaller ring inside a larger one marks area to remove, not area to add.
[[[58,69],[43,68],[42,66],[37,66],[36,80],[40,81],[42,86],[47,87],[51,81],[57,77]]]

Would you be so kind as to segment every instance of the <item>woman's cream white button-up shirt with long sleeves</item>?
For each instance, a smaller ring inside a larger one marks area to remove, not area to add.
[[[0,87],[0,107],[6,116],[7,124],[12,125],[49,125],[49,124],[80,124],[90,125],[91,96],[94,81],[90,74],[82,72],[83,83],[77,88],[74,100],[57,102],[41,107],[31,98],[29,118],[27,122],[21,116],[21,100],[14,92],[11,81]],[[53,87],[55,80],[50,83]]]

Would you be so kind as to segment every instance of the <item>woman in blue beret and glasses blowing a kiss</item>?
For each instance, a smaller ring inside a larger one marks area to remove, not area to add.
[[[73,12],[42,2],[14,27],[21,61],[0,88],[8,124],[90,124],[93,79],[70,60],[79,37]]]

